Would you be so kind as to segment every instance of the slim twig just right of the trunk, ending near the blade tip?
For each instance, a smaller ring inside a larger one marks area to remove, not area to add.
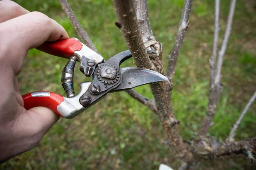
[[[175,74],[175,66],[177,63],[178,56],[180,54],[180,48],[183,43],[186,30],[189,26],[189,15],[192,7],[193,0],[185,0],[182,15],[180,19],[179,29],[176,34],[175,43],[172,52],[169,54],[169,62],[166,71],[166,77],[172,79]]]

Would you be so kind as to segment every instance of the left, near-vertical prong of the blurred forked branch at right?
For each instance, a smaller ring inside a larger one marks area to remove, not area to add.
[[[215,24],[214,24],[214,39],[212,47],[212,57],[209,59],[210,64],[210,88],[214,88],[215,79],[215,64],[218,52],[218,35],[219,35],[219,14],[220,14],[220,0],[215,0]]]

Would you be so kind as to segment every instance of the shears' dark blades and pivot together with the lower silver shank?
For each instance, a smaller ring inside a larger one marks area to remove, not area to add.
[[[154,51],[147,51],[155,53]],[[71,119],[103,99],[108,93],[125,91],[140,85],[168,80],[162,74],[144,68],[119,68],[132,57],[129,50],[98,64],[93,74],[93,82],[82,82],[78,95],[66,98],[57,106],[57,111],[66,119]]]

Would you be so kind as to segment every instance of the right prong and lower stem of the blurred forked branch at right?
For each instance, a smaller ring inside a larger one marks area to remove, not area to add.
[[[215,17],[217,17],[218,15],[216,15],[217,10],[219,10],[219,7],[217,8],[217,5],[219,4],[217,2],[217,0],[215,1],[216,3],[216,8],[215,8]],[[218,4],[217,4],[218,3]],[[209,90],[209,103],[207,105],[207,109],[206,109],[206,115],[204,116],[204,121],[202,123],[199,135],[206,135],[206,133],[209,130],[210,124],[212,122],[212,118],[214,117],[215,113],[216,113],[216,109],[217,109],[217,102],[219,99],[219,96],[221,94],[222,91],[222,84],[220,82],[221,79],[221,66],[223,63],[223,57],[227,48],[227,42],[231,33],[231,26],[232,26],[232,21],[233,21],[233,15],[234,15],[234,11],[235,11],[235,6],[236,6],[236,0],[231,0],[230,2],[230,11],[228,14],[228,19],[227,19],[227,27],[226,27],[226,31],[225,31],[225,35],[224,35],[224,40],[222,42],[221,45],[221,51],[218,54],[218,62],[217,62],[217,68],[215,70],[215,78],[214,78],[214,82],[213,82],[213,77],[212,77],[212,72],[211,72],[211,76],[210,76],[210,90]],[[216,21],[216,19],[215,19]],[[216,27],[215,27],[216,29]],[[213,49],[214,50],[214,49]],[[211,63],[210,63],[211,64]],[[211,66],[212,67],[212,66]],[[212,71],[212,68],[211,68]],[[213,85],[213,87],[212,87]]]

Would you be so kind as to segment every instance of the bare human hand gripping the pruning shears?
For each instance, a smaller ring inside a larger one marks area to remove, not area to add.
[[[48,108],[26,110],[17,75],[27,52],[45,41],[68,38],[62,26],[40,12],[0,1],[0,163],[35,147],[59,116]]]

